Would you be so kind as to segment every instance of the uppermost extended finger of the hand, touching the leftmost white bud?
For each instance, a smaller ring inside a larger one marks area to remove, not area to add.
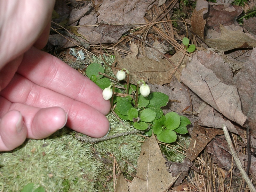
[[[109,112],[110,102],[103,99],[100,87],[46,52],[30,48],[17,73],[37,85],[83,102],[104,115]]]

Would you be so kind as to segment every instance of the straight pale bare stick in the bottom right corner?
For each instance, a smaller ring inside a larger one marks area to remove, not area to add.
[[[238,155],[236,153],[236,150],[235,150],[235,148],[234,148],[234,146],[232,144],[231,138],[229,136],[227,126],[225,124],[223,124],[222,125],[222,129],[223,129],[223,132],[225,134],[226,140],[228,142],[228,147],[229,147],[229,149],[231,151],[231,154],[232,154],[232,156],[233,156],[233,158],[234,158],[234,160],[236,162],[237,168],[239,169],[240,173],[242,174],[242,176],[243,176],[246,184],[248,185],[249,189],[251,190],[251,192],[256,192],[256,189],[254,188],[250,178],[248,177],[248,175],[244,171],[244,168],[243,168],[243,166],[241,164],[241,161],[239,160],[239,157],[238,157]]]

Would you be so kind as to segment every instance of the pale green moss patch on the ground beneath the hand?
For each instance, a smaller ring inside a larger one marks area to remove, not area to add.
[[[109,134],[132,130],[126,128],[113,114]],[[63,128],[43,140],[28,139],[10,152],[0,153],[0,180],[4,191],[20,191],[26,184],[35,183],[46,191],[113,191],[113,157],[120,169],[124,162],[136,165],[143,140],[138,135],[127,135],[96,144],[83,143],[76,132]],[[106,163],[99,157],[110,160]],[[129,168],[131,172],[133,168]]]

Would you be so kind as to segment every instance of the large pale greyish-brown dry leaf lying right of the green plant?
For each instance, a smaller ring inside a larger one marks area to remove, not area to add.
[[[236,87],[220,82],[212,70],[199,62],[196,53],[183,69],[181,81],[228,119],[243,126],[246,116]]]

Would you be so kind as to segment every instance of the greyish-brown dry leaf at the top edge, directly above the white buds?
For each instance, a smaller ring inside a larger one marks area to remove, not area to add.
[[[145,23],[146,11],[155,1],[104,0],[98,11],[98,21],[109,24]]]

